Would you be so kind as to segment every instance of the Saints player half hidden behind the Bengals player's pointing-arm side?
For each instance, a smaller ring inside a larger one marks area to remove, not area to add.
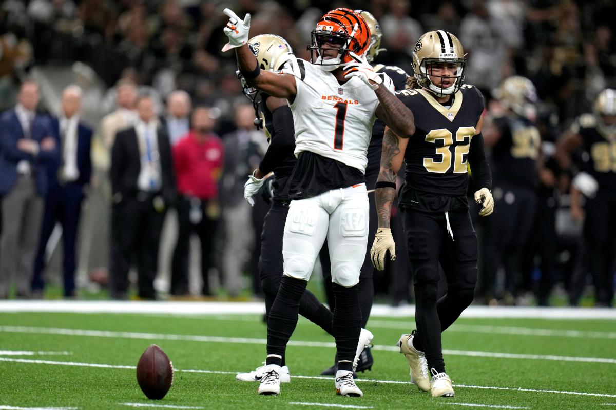
[[[286,61],[293,55],[291,46],[280,36],[262,34],[248,41],[260,65],[268,71],[280,71]],[[295,149],[293,114],[283,98],[276,98],[249,87],[238,71],[246,97],[253,102],[257,115],[257,127],[263,127],[270,142],[265,156],[253,175],[248,177],[244,187],[244,197],[254,205],[253,195],[262,189],[265,177],[272,177],[272,198],[270,210],[265,216],[261,233],[261,256],[259,258],[259,276],[265,293],[265,320],[278,293],[283,274],[282,232],[285,229],[286,216],[289,211],[289,182],[297,162],[293,154]],[[309,290],[305,290],[299,301],[299,313],[308,320],[332,334],[332,313],[318,301]],[[264,373],[261,366],[248,373],[239,373],[235,379],[246,382],[260,381]],[[282,382],[289,382],[289,369],[282,358]]]

